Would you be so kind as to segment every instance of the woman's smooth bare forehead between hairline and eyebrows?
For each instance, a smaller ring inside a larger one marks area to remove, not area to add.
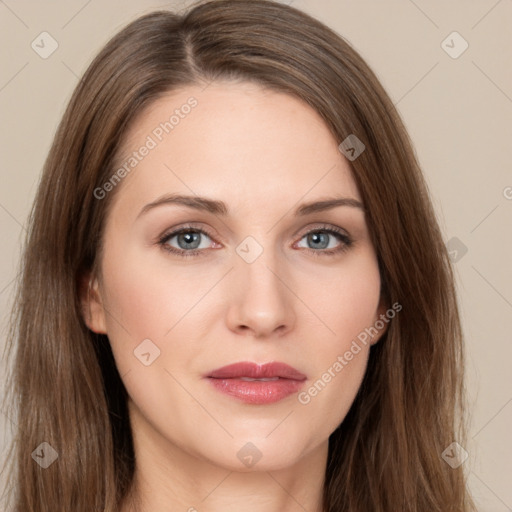
[[[116,196],[132,202],[165,192],[217,197],[240,209],[284,206],[284,198],[290,206],[327,195],[360,199],[319,114],[250,82],[191,85],[154,101],[125,135],[115,168],[123,165],[126,193]]]

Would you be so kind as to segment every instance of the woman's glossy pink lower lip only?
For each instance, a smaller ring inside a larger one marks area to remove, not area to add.
[[[296,393],[304,381],[292,379],[254,380],[208,379],[215,388],[248,404],[271,404]]]

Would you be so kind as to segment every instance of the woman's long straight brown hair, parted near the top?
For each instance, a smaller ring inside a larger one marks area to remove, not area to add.
[[[463,346],[454,276],[404,125],[375,74],[334,31],[270,0],[201,1],[139,17],[100,51],[76,87],[45,162],[28,223],[9,351],[17,431],[14,512],[119,510],[134,453],[126,391],[108,338],[87,329],[80,277],[98,262],[127,127],[178,87],[249,80],[298,97],[339,143],[367,209],[382,294],[402,306],[329,438],[326,512],[473,511],[463,466]],[[119,187],[117,187],[119,188]],[[31,456],[47,442],[57,463]]]

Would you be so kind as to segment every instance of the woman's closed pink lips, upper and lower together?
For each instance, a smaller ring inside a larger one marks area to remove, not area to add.
[[[285,363],[258,365],[251,362],[223,366],[206,377],[218,391],[251,404],[278,402],[297,392],[307,378],[306,375]],[[277,380],[247,381],[242,377],[252,379],[277,377]]]

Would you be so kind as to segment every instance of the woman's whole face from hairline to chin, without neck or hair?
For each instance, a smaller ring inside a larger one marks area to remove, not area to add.
[[[308,105],[250,83],[181,89],[131,127],[115,168],[126,172],[97,191],[115,195],[85,304],[153,453],[283,468],[343,421],[385,306],[338,144]],[[238,362],[301,375],[213,373]]]

